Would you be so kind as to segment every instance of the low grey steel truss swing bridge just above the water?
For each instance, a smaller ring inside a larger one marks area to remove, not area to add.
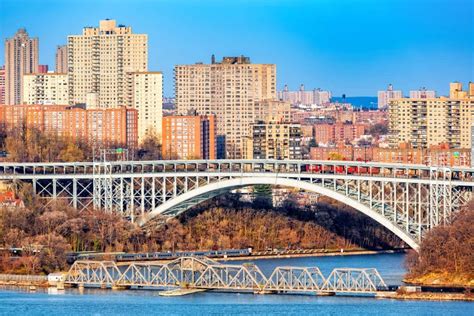
[[[376,294],[388,286],[376,269],[334,269],[325,277],[317,267],[276,267],[265,275],[258,266],[223,264],[206,257],[170,262],[76,261],[64,283],[78,287],[186,288],[254,293]]]

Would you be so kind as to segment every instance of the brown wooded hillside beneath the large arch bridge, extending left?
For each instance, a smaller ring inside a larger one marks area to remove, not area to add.
[[[26,192],[26,193],[25,193]],[[163,225],[142,229],[120,215],[47,206],[28,194],[25,208],[0,209],[0,271],[49,273],[67,268],[69,251],[148,252],[253,247],[255,250],[386,248],[402,245],[393,234],[352,210],[321,204],[316,210],[254,209],[233,195],[209,201]]]

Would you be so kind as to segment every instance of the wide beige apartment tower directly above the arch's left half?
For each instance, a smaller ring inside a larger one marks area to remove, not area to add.
[[[175,66],[176,108],[185,115],[215,114],[227,158],[241,158],[244,138],[256,119],[256,102],[276,98],[276,66],[248,57],[224,57],[211,64]]]

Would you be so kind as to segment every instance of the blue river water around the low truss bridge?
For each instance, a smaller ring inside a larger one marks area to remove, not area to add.
[[[387,284],[404,274],[402,254],[308,257],[254,261],[264,273],[275,266],[377,268]],[[233,263],[238,263],[234,261]],[[473,315],[472,303],[382,300],[367,297],[198,293],[161,297],[156,291],[67,289],[28,293],[0,289],[0,315]]]

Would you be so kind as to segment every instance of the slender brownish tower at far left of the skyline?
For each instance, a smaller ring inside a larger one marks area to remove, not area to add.
[[[5,104],[22,103],[23,75],[38,71],[38,45],[25,29],[5,41]]]

